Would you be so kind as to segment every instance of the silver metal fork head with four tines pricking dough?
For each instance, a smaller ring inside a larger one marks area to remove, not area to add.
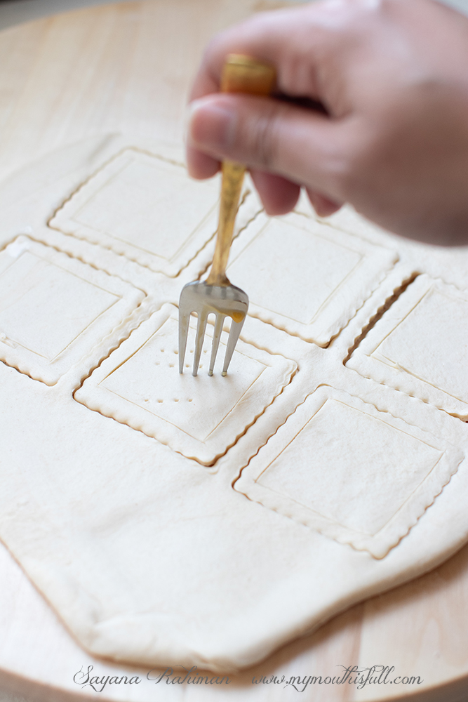
[[[189,332],[190,315],[195,312],[198,321],[196,325],[194,368],[192,374],[196,376],[199,370],[201,349],[205,336],[206,322],[208,314],[215,314],[215,331],[213,332],[213,344],[211,346],[210,370],[208,375],[213,375],[222,325],[226,317],[231,317],[231,329],[227,342],[225,364],[222,375],[225,376],[229,363],[231,362],[234,348],[236,347],[239,334],[243,326],[248,310],[248,296],[235,285],[207,285],[206,282],[188,283],[182,288],[179,300],[179,372],[184,371],[185,348],[187,346],[187,335]]]

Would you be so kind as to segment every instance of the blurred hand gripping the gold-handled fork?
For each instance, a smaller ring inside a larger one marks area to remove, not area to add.
[[[228,53],[272,63],[293,101],[218,93]],[[290,211],[304,186],[320,216],[349,202],[398,234],[468,243],[467,66],[468,19],[435,0],[326,0],[255,15],[203,58],[189,173],[210,178],[221,159],[240,161],[269,214]]]

